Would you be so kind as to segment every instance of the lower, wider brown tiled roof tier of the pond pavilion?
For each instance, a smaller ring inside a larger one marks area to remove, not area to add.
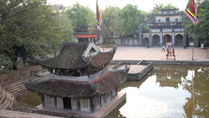
[[[57,97],[87,98],[96,94],[106,94],[125,82],[129,68],[123,72],[106,70],[89,81],[72,79],[54,79],[46,77],[37,82],[26,82],[25,86],[32,91]],[[69,77],[70,78],[70,77]],[[79,78],[79,77],[77,77]],[[96,89],[94,89],[94,87]]]

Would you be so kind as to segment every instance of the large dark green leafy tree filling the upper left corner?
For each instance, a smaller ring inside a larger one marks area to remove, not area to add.
[[[46,55],[63,39],[61,27],[45,0],[0,1],[0,55],[17,60]]]

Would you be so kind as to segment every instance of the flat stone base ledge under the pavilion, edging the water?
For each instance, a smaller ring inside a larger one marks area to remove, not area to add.
[[[94,113],[84,113],[75,112],[71,110],[59,110],[59,109],[46,109],[42,105],[39,105],[33,111],[35,113],[61,116],[61,117],[79,117],[79,118],[103,118],[107,116],[113,109],[115,109],[123,100],[126,99],[126,93],[119,92],[118,95],[112,99],[109,103],[105,104],[97,112]]]

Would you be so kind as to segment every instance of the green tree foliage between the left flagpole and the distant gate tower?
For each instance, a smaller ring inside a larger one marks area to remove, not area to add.
[[[130,4],[123,9],[109,6],[103,11],[102,17],[102,36],[104,40],[134,34],[139,25],[139,18],[142,21],[143,32],[149,31],[146,26],[148,13],[139,11],[136,6]]]

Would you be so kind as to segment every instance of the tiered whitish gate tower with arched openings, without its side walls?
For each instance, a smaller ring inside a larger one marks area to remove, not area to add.
[[[148,26],[150,33],[143,35],[142,42],[148,42],[149,46],[165,44],[186,46],[186,33],[179,9],[159,10],[159,14],[155,16],[155,22],[149,23]]]

